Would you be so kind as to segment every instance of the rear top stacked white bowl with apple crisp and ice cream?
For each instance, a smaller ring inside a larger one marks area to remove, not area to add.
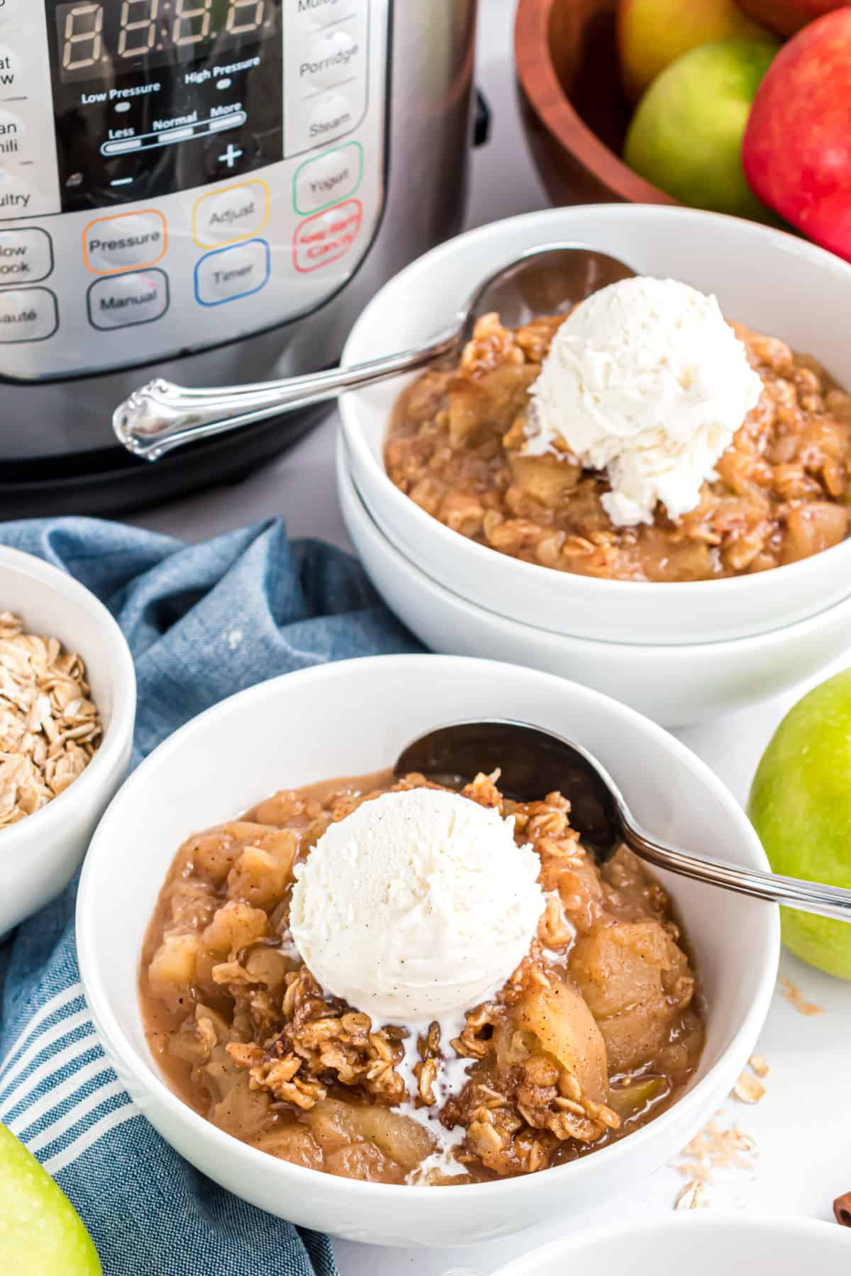
[[[845,600],[851,268],[813,245],[685,208],[532,213],[398,274],[343,361],[422,343],[556,242],[637,277],[584,297],[545,277],[440,366],[343,398],[381,532],[471,604],[593,642],[746,638]]]

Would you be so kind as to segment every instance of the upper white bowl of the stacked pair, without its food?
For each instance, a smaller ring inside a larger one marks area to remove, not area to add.
[[[736,217],[642,204],[552,208],[470,231],[421,256],[366,306],[343,352],[357,364],[443,330],[471,290],[523,249],[579,241],[646,274],[716,292],[726,315],[815,355],[851,387],[851,265],[781,231]],[[851,592],[851,541],[758,575],[683,584],[596,581],[521,563],[444,527],[388,478],[383,445],[406,379],[341,403],[352,473],[406,558],[454,593],[513,620],[577,638],[670,643],[766,633]]]

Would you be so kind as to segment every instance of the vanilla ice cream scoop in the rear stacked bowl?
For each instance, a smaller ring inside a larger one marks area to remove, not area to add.
[[[529,388],[524,452],[560,440],[584,468],[605,470],[616,526],[651,523],[657,500],[679,518],[762,389],[716,297],[675,279],[621,279],[558,329]]]

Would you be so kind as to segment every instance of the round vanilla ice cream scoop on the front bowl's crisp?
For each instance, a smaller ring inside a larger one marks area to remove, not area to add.
[[[290,929],[323,988],[375,1021],[477,1005],[517,968],[544,911],[514,820],[458,794],[364,803],[296,869]]]

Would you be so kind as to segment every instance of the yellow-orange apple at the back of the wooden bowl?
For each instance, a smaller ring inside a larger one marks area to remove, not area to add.
[[[772,40],[736,0],[619,0],[618,54],[626,97],[637,102],[689,48],[736,38]]]

